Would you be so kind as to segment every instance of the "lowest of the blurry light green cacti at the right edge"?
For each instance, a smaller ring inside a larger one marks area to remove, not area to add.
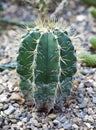
[[[95,67],[96,66],[96,54],[90,54],[88,52],[82,52],[79,55],[79,58],[82,63],[86,63],[88,66]]]

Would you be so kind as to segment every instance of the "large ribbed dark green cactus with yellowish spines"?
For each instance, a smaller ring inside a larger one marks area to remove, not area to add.
[[[54,107],[70,94],[76,57],[67,32],[50,25],[32,28],[23,37],[17,63],[20,88],[37,106]]]

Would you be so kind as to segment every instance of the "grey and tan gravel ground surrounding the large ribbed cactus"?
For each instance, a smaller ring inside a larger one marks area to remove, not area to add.
[[[22,7],[14,5],[15,11],[10,12],[12,6],[9,4],[9,12],[7,9],[2,13],[4,18],[17,16],[14,19],[20,20],[23,14],[21,21],[24,21],[23,18],[30,16],[29,11],[34,19],[31,9],[26,11],[23,8],[22,13]],[[18,8],[20,16],[14,16]],[[73,24],[76,27],[79,36],[79,39],[74,40],[77,55],[82,49],[91,51],[88,39],[96,35],[96,20],[89,15],[88,7],[79,3],[79,0],[70,1],[68,8],[58,19],[65,26]],[[14,27],[0,33],[0,64],[16,60],[19,37],[23,32],[23,29]],[[18,86],[19,77],[15,70],[0,72],[0,130],[96,130],[96,68],[82,66],[78,61],[77,70],[72,94],[67,103],[61,111],[48,115],[36,112],[25,101]]]

